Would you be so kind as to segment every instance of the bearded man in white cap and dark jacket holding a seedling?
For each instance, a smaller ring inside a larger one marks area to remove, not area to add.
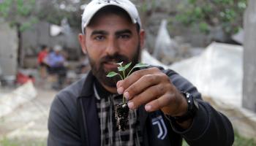
[[[140,61],[145,33],[128,0],[93,0],[79,35],[91,72],[57,94],[48,120],[48,145],[232,145],[233,127],[172,70],[150,66],[127,79],[108,78],[123,61]],[[115,105],[124,94],[129,120],[116,128]]]

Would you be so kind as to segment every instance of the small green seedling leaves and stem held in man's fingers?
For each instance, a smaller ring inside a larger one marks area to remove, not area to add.
[[[129,71],[129,73],[126,74],[125,71],[129,68],[129,66],[131,66],[132,62],[130,62],[129,64],[126,64],[124,66],[122,64],[123,64],[123,62],[117,63],[118,72],[109,72],[107,77],[114,77],[114,76],[118,75],[121,78],[121,80],[124,80],[125,78],[129,77],[129,75],[132,73],[133,69],[148,66],[148,64],[143,64],[143,63],[135,64],[135,66],[132,67],[132,69]],[[124,96],[123,96],[123,104],[126,104]]]

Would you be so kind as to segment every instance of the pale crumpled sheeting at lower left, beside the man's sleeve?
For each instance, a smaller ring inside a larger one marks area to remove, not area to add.
[[[35,99],[21,104],[10,114],[0,118],[0,140],[46,142],[47,121],[51,101],[57,91],[37,85]]]

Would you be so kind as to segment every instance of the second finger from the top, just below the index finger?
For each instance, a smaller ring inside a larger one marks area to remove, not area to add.
[[[146,88],[153,86],[153,85],[157,85],[160,81],[160,77],[161,76],[159,74],[146,74],[143,77],[140,77],[139,80],[134,82],[132,85],[130,85],[127,88],[127,90],[124,91],[124,97],[127,100],[132,99],[134,96],[145,91]],[[157,88],[157,90],[159,90],[159,89]]]

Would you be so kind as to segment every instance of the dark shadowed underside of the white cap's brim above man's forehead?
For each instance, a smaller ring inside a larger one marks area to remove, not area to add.
[[[110,6],[103,7],[102,9],[99,9],[99,11],[93,16],[93,18],[91,18],[88,26],[91,26],[94,23],[95,18],[98,18],[100,15],[109,15],[109,14],[121,16],[122,18],[126,18],[127,20],[129,20],[132,23],[132,19],[130,18],[129,14],[124,9],[121,9],[121,7],[110,5]],[[139,33],[140,26],[138,23],[136,23],[136,29]],[[84,31],[84,32],[86,32],[86,31]]]

